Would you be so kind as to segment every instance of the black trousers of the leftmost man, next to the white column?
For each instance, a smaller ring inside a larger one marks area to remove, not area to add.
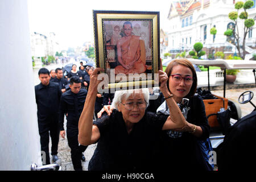
[[[41,151],[45,152],[45,155],[42,155],[43,165],[51,164],[49,160],[49,136],[51,136],[52,140],[51,155],[57,155],[60,136],[58,117],[55,115],[48,117],[44,121],[39,120],[38,127]]]

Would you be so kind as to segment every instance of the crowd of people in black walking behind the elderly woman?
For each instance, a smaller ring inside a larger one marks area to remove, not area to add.
[[[82,62],[80,64],[79,71],[76,69],[76,64],[73,64],[67,77],[63,75],[61,68],[51,71],[41,68],[38,72],[40,84],[35,86],[40,144],[41,150],[46,154],[43,164],[51,163],[49,137],[52,141],[52,160],[56,162],[59,159],[57,156],[59,135],[65,138],[63,123],[66,117],[68,146],[71,148],[73,168],[77,171],[82,170],[81,160],[85,161],[82,152],[87,147],[78,142],[78,123],[89,88],[90,75],[94,70],[93,67],[83,65]],[[98,93],[96,100],[94,118],[97,118],[97,113],[103,105],[111,104],[109,94]]]

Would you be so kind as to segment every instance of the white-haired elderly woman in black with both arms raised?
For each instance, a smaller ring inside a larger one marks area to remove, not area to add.
[[[115,92],[111,115],[102,115],[93,122],[97,95],[98,72],[90,75],[90,86],[84,109],[79,119],[79,143],[85,146],[97,143],[90,171],[137,171],[157,169],[154,163],[154,146],[162,130],[182,129],[185,118],[167,88],[167,75],[159,71],[160,89],[166,100],[170,115],[146,111],[149,92],[147,88],[119,90]],[[174,114],[173,114],[174,113]]]

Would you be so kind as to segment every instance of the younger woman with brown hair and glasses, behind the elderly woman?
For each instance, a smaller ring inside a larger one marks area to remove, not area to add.
[[[187,59],[175,59],[167,65],[165,72],[168,76],[167,89],[173,94],[172,98],[180,107],[186,124],[181,129],[162,131],[159,151],[155,155],[155,160],[158,161],[156,165],[158,169],[163,170],[212,170],[212,166],[205,163],[199,144],[199,140],[209,138],[210,126],[205,115],[204,102],[199,95],[195,95],[197,88],[195,68]],[[104,106],[98,117],[101,117],[104,111],[110,115],[112,110],[113,107]],[[172,112],[161,92],[156,100],[150,100],[147,110],[166,115]]]

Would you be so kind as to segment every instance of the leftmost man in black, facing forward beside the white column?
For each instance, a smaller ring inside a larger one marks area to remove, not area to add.
[[[58,125],[58,108],[61,91],[59,85],[50,82],[49,71],[41,68],[38,72],[40,84],[35,86],[36,104],[38,106],[38,127],[40,135],[41,150],[46,153],[46,160],[43,164],[50,164],[49,160],[49,135],[52,140],[51,155],[53,162],[56,162],[59,143],[60,129]],[[44,155],[43,155],[44,156]]]

